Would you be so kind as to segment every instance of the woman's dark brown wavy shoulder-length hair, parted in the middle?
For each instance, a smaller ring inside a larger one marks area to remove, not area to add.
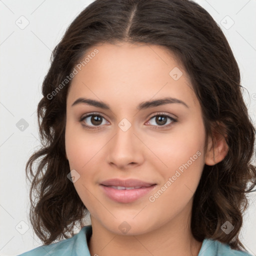
[[[191,0],[95,0],[66,29],[52,51],[37,105],[41,146],[25,167],[31,182],[29,220],[36,235],[44,244],[69,238],[88,212],[67,178],[64,134],[71,80],[50,99],[49,95],[89,47],[105,42],[161,45],[182,63],[200,103],[206,135],[213,139],[217,132],[228,145],[222,161],[204,164],[193,198],[191,232],[198,241],[211,238],[245,249],[238,234],[248,207],[246,193],[256,184],[256,167],[251,164],[255,128],[227,39],[210,14]],[[226,221],[234,226],[228,234],[221,229]]]

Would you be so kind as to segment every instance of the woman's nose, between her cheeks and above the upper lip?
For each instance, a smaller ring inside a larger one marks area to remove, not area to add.
[[[134,133],[132,125],[127,130],[120,127],[117,125],[116,133],[108,143],[107,161],[118,169],[134,168],[144,160],[145,145]]]

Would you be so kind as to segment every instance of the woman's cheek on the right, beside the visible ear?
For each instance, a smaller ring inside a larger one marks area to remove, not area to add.
[[[154,148],[151,164],[158,169],[165,183],[173,180],[171,189],[184,191],[184,184],[195,191],[204,166],[203,147],[205,132],[202,119],[191,118],[185,124],[172,129],[164,136],[157,137],[150,145]],[[160,159],[160,161],[159,161]],[[161,167],[159,167],[161,166]]]

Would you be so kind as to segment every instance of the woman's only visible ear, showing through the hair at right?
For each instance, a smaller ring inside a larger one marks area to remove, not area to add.
[[[220,126],[223,127],[223,125]],[[216,130],[213,130],[212,137],[208,136],[207,150],[204,156],[205,164],[214,165],[224,159],[228,152],[228,145],[225,141],[226,137],[226,135],[223,136]]]

